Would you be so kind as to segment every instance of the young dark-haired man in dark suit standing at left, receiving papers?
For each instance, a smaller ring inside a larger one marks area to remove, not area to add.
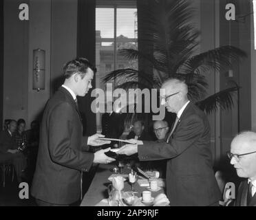
[[[76,96],[85,96],[92,88],[95,67],[85,58],[76,58],[64,66],[65,83],[48,100],[40,129],[39,153],[32,183],[32,195],[39,206],[67,206],[78,201],[81,171],[93,163],[107,164],[115,159],[105,150],[87,152],[88,145],[109,144],[104,135],[83,137],[81,115]]]

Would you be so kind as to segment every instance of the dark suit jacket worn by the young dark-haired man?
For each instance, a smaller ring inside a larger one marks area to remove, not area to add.
[[[32,195],[56,204],[78,201],[81,170],[89,171],[94,160],[93,153],[84,152],[87,149],[76,103],[61,87],[43,112]]]

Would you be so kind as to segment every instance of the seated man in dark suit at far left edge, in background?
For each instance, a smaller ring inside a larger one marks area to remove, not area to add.
[[[12,120],[8,124],[8,129],[6,131],[1,131],[0,133],[0,161],[1,162],[11,162],[14,165],[14,169],[17,175],[18,183],[21,183],[22,177],[24,175],[23,171],[27,166],[26,159],[18,150],[18,145],[14,141],[14,132],[17,129],[17,122]]]

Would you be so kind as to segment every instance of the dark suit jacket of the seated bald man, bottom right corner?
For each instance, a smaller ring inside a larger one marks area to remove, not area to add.
[[[247,192],[248,192],[248,179],[242,181],[237,191],[237,198],[235,199],[235,206],[256,206],[256,193],[247,204]]]

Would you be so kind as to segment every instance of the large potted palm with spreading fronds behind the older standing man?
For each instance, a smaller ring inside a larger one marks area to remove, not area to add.
[[[143,43],[153,48],[153,53],[134,49],[122,49],[120,54],[130,60],[140,59],[149,63],[153,72],[143,69],[117,69],[103,78],[107,83],[115,78],[125,78],[122,89],[159,89],[167,78],[182,78],[189,87],[189,99],[211,113],[217,107],[230,109],[237,87],[207,96],[208,72],[226,72],[246,53],[231,45],[222,46],[201,54],[198,50],[200,32],[190,23],[193,8],[187,0],[151,1],[152,7],[138,14],[142,25]]]

